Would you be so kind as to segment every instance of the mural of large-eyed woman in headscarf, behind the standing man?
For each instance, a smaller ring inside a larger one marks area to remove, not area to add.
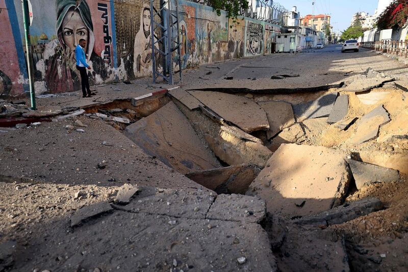
[[[45,60],[45,82],[51,92],[78,90],[79,71],[75,67],[75,47],[80,39],[87,41],[85,54],[87,62],[105,80],[108,77],[103,58],[94,52],[95,36],[91,11],[85,0],[56,0],[57,40],[49,44],[55,54]],[[91,85],[93,78],[90,78]]]

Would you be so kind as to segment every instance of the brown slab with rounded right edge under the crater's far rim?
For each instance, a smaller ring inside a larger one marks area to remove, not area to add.
[[[268,130],[265,111],[251,99],[222,92],[189,91],[202,104],[246,133]]]

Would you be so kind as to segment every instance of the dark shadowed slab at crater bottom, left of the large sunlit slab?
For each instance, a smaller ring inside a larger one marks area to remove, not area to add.
[[[241,164],[190,172],[186,177],[217,193],[243,194],[259,172],[256,165]]]

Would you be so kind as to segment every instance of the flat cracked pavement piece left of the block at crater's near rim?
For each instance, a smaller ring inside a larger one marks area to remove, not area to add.
[[[214,193],[215,195],[215,193]],[[205,219],[214,202],[212,192],[140,187],[140,193],[126,206],[114,206],[135,213]]]

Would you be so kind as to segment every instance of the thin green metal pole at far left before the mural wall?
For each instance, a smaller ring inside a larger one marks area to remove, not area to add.
[[[30,96],[31,96],[31,109],[35,110],[35,90],[34,90],[34,79],[33,79],[33,59],[31,52],[31,42],[30,42],[30,14],[29,14],[29,1],[21,0],[22,14],[24,21],[24,38],[25,38],[25,50],[27,51],[27,69],[29,72],[29,82],[30,82]],[[31,6],[31,5],[30,5]]]

